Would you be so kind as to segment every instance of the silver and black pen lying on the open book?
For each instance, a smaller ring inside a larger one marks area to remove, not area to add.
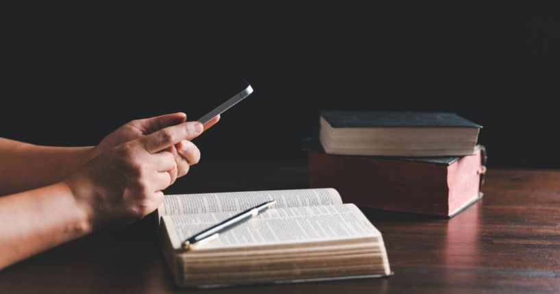
[[[212,240],[215,240],[216,238],[218,238],[219,233],[225,232],[227,230],[230,230],[231,228],[235,227],[236,225],[239,225],[240,223],[243,223],[244,221],[247,221],[249,219],[252,219],[253,217],[256,217],[259,213],[264,212],[265,210],[271,208],[271,206],[276,203],[276,200],[272,200],[272,201],[267,201],[263,204],[259,204],[258,206],[255,206],[254,208],[249,208],[247,210],[245,210],[244,212],[241,212],[237,215],[234,215],[233,217],[230,217],[229,219],[226,219],[225,221],[222,221],[221,223],[218,223],[217,225],[213,225],[212,227],[199,232],[198,234],[195,234],[194,236],[191,236],[191,238],[186,239],[183,243],[182,243],[182,247],[185,250],[192,250],[195,249],[196,247],[200,246],[200,245],[204,245]]]

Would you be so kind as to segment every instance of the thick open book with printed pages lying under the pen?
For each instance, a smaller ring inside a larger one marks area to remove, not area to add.
[[[195,250],[186,238],[265,201],[263,212]],[[380,232],[332,188],[166,195],[160,236],[179,286],[304,282],[390,274]]]

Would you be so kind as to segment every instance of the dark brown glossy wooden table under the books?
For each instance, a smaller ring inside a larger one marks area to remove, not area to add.
[[[167,192],[307,185],[303,164],[202,163]],[[390,278],[196,292],[560,293],[560,171],[491,169],[484,190],[483,201],[450,220],[363,209],[385,239]],[[173,286],[150,220],[0,271],[2,294],[179,291],[188,292]]]

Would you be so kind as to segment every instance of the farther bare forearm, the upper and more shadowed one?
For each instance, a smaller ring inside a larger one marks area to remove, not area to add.
[[[63,180],[90,159],[93,147],[47,147],[0,138],[0,195]]]

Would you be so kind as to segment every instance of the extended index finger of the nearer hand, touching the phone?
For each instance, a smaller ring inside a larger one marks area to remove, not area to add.
[[[188,121],[180,125],[165,127],[157,132],[153,132],[142,138],[138,138],[138,143],[143,145],[149,153],[156,153],[169,146],[173,146],[182,140],[192,140],[202,133],[204,127],[198,121]]]

